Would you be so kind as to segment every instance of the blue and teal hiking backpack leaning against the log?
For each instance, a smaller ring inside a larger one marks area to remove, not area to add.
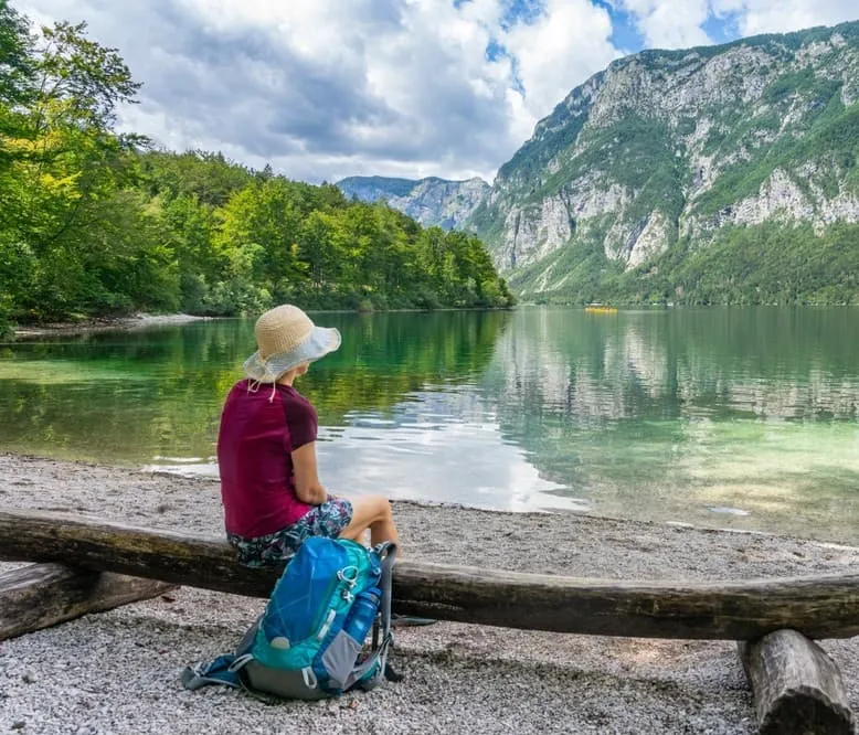
[[[188,667],[187,689],[241,686],[252,694],[319,700],[385,679],[393,544],[311,536],[287,564],[235,654]],[[368,643],[368,639],[372,642]]]

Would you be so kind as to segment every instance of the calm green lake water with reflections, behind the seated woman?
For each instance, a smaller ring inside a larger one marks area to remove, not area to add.
[[[859,311],[318,315],[336,492],[855,542]],[[0,344],[0,449],[216,473],[253,322]]]

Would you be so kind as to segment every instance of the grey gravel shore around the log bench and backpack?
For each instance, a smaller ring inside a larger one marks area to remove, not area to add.
[[[218,484],[0,455],[0,503],[218,534]],[[611,578],[856,569],[859,547],[569,513],[395,503],[414,558]],[[0,565],[0,569],[3,565]],[[179,672],[235,646],[262,600],[182,588],[0,643],[0,732],[754,733],[732,642],[654,641],[439,622],[401,629],[399,684],[266,706],[187,692]],[[859,711],[859,639],[824,641]]]

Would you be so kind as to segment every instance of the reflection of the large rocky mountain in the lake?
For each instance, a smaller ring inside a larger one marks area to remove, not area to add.
[[[856,419],[853,310],[522,310],[503,390],[583,419]]]

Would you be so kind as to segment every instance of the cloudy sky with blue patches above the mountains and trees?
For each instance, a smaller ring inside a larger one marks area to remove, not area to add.
[[[11,0],[144,83],[124,129],[311,182],[491,181],[613,58],[859,19],[856,0]]]

